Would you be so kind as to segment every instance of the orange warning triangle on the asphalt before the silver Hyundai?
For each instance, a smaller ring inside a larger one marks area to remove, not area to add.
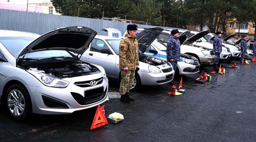
[[[91,130],[94,128],[98,128],[100,126],[106,125],[108,124],[108,121],[102,111],[102,109],[100,108],[100,105],[98,105],[97,111],[95,113],[93,122],[92,122],[92,126],[91,126]]]

